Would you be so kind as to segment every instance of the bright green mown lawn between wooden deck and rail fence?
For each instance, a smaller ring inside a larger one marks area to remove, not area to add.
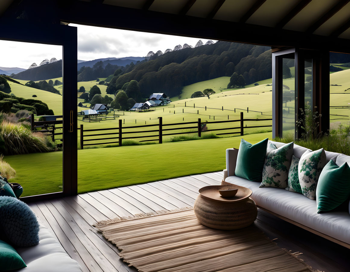
[[[243,136],[256,143],[271,133]],[[240,136],[152,145],[78,150],[78,192],[141,184],[226,168],[226,148],[238,148]],[[22,196],[62,190],[62,152],[4,158],[17,172]]]

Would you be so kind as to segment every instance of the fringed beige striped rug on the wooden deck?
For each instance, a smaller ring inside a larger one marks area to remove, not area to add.
[[[198,222],[192,208],[100,221],[94,225],[142,272],[314,271],[280,249],[256,227],[217,230]]]

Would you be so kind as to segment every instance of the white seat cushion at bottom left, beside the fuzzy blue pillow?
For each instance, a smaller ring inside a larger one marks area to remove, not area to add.
[[[80,265],[65,252],[62,246],[40,224],[40,242],[27,248],[16,248],[27,267],[18,272],[82,272]]]

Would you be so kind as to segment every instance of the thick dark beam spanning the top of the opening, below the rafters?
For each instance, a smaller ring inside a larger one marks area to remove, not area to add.
[[[288,29],[179,16],[106,4],[97,5],[85,1],[71,0],[69,3],[69,7],[58,7],[56,10],[60,21],[208,40],[350,53],[350,40],[344,38],[330,39],[326,36]],[[98,13],[96,13],[97,7]]]

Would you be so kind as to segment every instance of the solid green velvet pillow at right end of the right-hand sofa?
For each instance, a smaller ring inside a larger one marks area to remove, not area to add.
[[[330,160],[318,178],[316,189],[317,213],[337,208],[350,196],[350,167],[338,166]]]

